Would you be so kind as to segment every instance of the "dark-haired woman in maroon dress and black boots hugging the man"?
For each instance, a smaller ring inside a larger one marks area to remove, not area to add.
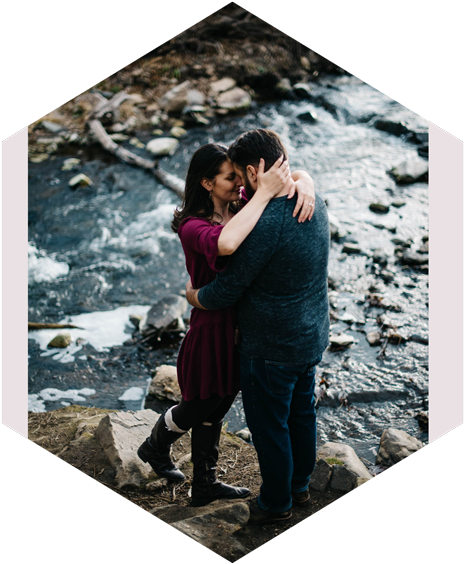
[[[314,200],[309,175],[302,171],[290,175],[283,158],[266,173],[261,160],[258,188],[248,201],[225,147],[209,143],[195,152],[187,173],[183,205],[176,210],[172,222],[172,229],[181,240],[194,287],[208,284],[226,268],[228,257],[287,182],[298,182],[295,184],[299,191],[296,209],[302,206],[303,200]],[[229,486],[216,477],[222,422],[240,390],[235,332],[234,307],[192,310],[190,328],[177,361],[182,400],[159,417],[150,437],[138,450],[139,457],[159,476],[185,480],[171,460],[170,449],[172,443],[192,429],[194,506],[249,494],[247,488]]]

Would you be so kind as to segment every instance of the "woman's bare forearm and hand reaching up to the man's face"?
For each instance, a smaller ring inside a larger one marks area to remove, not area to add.
[[[290,169],[287,162],[282,164],[282,159],[283,156],[277,159],[267,172],[264,172],[264,159],[260,160],[257,174],[258,188],[240,213],[222,229],[218,239],[218,256],[231,255],[238,249],[258,223],[269,201],[288,182]]]

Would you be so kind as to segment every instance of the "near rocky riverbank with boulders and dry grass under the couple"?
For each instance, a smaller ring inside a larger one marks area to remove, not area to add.
[[[153,383],[155,380],[156,377]],[[149,465],[138,459],[136,450],[158,416],[152,409],[122,412],[71,405],[48,413],[29,413],[28,438],[58,460],[229,562],[250,554],[358,487],[369,487],[367,482],[380,469],[385,471],[423,447],[403,431],[388,429],[381,439],[379,465],[369,470],[351,447],[326,443],[318,451],[319,459],[311,478],[311,505],[294,508],[291,520],[284,524],[255,527],[247,525],[247,500],[217,500],[201,508],[190,505],[193,467],[189,434],[173,446],[173,457],[187,476],[183,483],[173,485],[158,478]],[[256,451],[226,429],[218,467],[222,481],[248,487],[249,499],[258,495],[261,480]]]

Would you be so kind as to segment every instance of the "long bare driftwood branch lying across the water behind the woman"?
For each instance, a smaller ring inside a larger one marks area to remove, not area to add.
[[[107,151],[109,151],[125,163],[151,171],[155,178],[157,178],[161,182],[161,184],[163,184],[167,188],[170,188],[178,196],[183,197],[184,183],[177,176],[174,176],[173,174],[160,169],[157,161],[144,159],[143,157],[139,157],[135,153],[132,153],[132,151],[128,151],[127,149],[120,147],[111,139],[111,137],[103,127],[100,119],[103,116],[114,112],[114,110],[116,110],[116,108],[128,98],[130,98],[130,94],[125,91],[118,92],[109,101],[101,96],[100,103],[97,104],[94,111],[91,113],[87,120],[87,126],[103,146],[103,148],[105,148]]]

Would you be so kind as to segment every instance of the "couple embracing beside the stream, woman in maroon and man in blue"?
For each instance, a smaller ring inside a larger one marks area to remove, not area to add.
[[[265,129],[193,155],[172,222],[193,306],[177,361],[182,400],[138,450],[159,476],[185,480],[170,445],[191,429],[192,504],[248,497],[245,484],[216,476],[223,419],[241,391],[262,477],[251,524],[289,519],[310,502],[315,371],[329,344],[327,210],[287,157]]]

